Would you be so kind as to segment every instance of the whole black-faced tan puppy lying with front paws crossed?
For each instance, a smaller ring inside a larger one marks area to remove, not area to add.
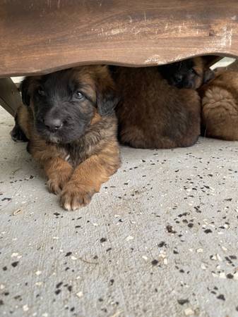
[[[117,105],[107,66],[85,66],[26,77],[15,137],[44,168],[49,192],[66,210],[87,205],[120,166]]]

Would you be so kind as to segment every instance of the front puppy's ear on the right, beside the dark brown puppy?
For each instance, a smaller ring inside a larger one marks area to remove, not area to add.
[[[97,74],[97,110],[100,116],[109,116],[114,113],[119,102],[119,95],[107,66],[102,66]]]

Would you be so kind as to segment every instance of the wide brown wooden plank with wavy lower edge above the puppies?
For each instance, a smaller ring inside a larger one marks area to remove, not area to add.
[[[238,56],[237,0],[5,0],[0,75]]]

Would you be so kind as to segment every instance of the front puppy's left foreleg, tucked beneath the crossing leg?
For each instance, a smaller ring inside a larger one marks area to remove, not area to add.
[[[29,151],[40,163],[47,175],[49,192],[59,194],[73,173],[72,166],[64,160],[66,154],[54,144],[46,144],[43,139],[33,135],[29,142]]]

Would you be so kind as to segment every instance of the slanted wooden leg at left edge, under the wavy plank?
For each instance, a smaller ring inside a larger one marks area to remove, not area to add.
[[[20,104],[20,93],[11,78],[0,78],[0,105],[12,116],[15,116]]]

